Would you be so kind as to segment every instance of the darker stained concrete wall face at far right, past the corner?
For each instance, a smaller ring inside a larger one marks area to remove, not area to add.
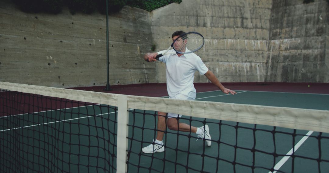
[[[329,82],[328,2],[273,1],[267,82]]]

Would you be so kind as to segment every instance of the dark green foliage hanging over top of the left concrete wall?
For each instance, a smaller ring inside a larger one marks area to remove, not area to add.
[[[60,13],[64,6],[68,7],[72,14],[76,12],[106,13],[106,0],[12,0],[18,8],[28,13]],[[109,13],[120,11],[123,6],[128,5],[147,11],[152,11],[170,3],[181,3],[182,0],[108,0]]]

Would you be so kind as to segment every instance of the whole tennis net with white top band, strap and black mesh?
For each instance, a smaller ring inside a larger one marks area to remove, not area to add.
[[[0,172],[325,172],[329,111],[182,101],[0,82]],[[212,146],[156,111],[209,125]],[[198,141],[196,141],[198,139]]]

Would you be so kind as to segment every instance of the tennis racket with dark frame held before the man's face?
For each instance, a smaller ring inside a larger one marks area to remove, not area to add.
[[[176,40],[170,45],[170,47],[164,52],[156,56],[155,59],[170,54],[168,50],[173,48],[177,53],[187,54],[192,53],[203,47],[205,44],[204,37],[198,32],[188,32],[176,38]]]

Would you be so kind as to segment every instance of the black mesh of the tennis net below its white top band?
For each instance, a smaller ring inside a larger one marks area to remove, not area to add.
[[[117,172],[118,146],[125,145],[117,144],[119,138],[127,140],[127,167],[120,169],[128,172],[329,170],[329,134],[324,132],[182,116],[180,123],[208,125],[212,145],[207,146],[195,133],[166,128],[162,131],[164,152],[143,153],[142,148],[154,144],[152,139],[157,137],[157,109],[128,109],[127,127],[119,127],[122,117],[116,106],[101,103],[108,99],[99,96],[104,93],[93,93],[101,98],[97,104],[0,91],[0,172]],[[168,100],[148,99],[147,105]],[[193,106],[190,109],[201,111]],[[208,109],[219,111],[211,106]],[[117,135],[122,128],[128,128],[127,137]]]

